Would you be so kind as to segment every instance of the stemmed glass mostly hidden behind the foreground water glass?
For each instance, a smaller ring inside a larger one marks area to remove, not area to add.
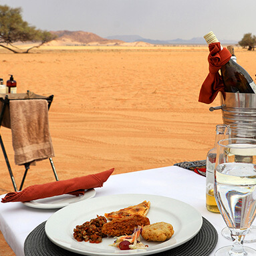
[[[239,123],[229,124],[225,130],[223,138],[254,138],[256,139],[256,124]],[[227,239],[231,239],[231,233],[228,227],[225,227],[221,234]],[[256,227],[252,225],[247,233],[244,243],[256,242]]]

